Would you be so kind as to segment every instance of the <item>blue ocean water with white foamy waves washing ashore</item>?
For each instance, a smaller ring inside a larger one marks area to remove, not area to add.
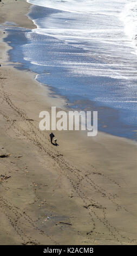
[[[27,2],[37,28],[6,28],[12,61],[74,108],[98,111],[99,130],[136,139],[137,2]]]

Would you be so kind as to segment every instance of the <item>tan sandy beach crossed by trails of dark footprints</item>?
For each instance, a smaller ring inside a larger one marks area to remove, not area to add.
[[[35,28],[25,0],[0,2],[0,23]],[[40,131],[51,97],[9,62],[0,31],[0,245],[136,245],[136,143],[99,132]],[[55,96],[55,95],[54,95]]]

